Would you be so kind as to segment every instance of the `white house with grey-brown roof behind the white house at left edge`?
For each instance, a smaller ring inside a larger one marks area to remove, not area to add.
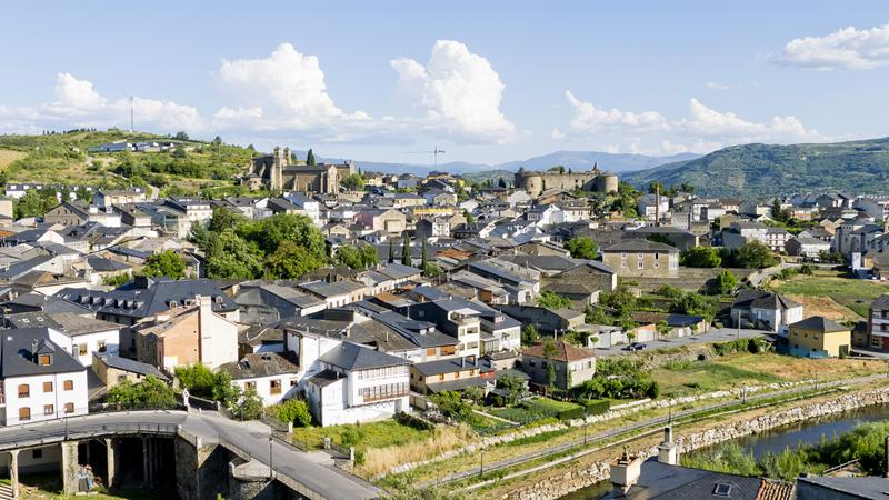
[[[22,312],[6,317],[13,329],[44,327],[52,341],[70,352],[81,364],[92,364],[92,357],[117,356],[120,348],[121,326],[73,312]]]

